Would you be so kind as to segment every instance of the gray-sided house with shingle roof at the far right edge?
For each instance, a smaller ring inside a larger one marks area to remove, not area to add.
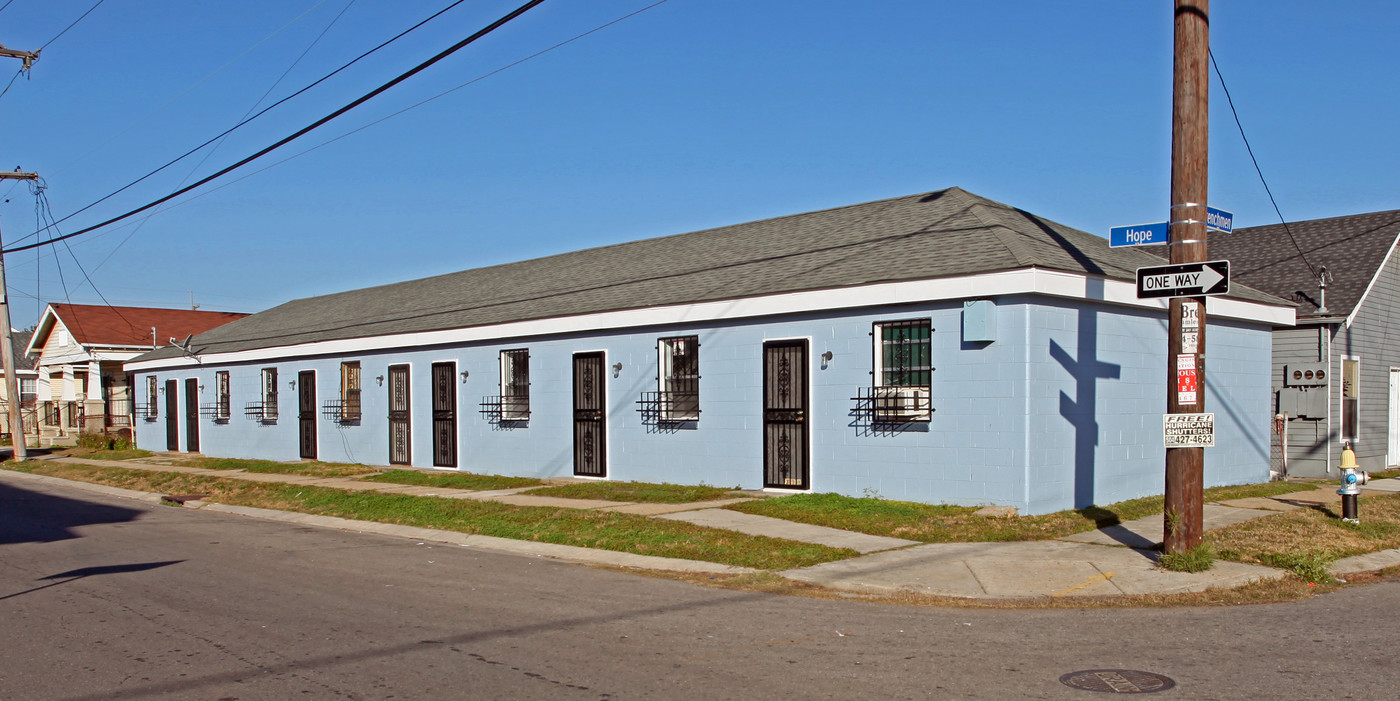
[[[1298,302],[1274,332],[1275,472],[1336,476],[1351,442],[1364,469],[1400,462],[1400,210],[1211,236],[1239,281]]]

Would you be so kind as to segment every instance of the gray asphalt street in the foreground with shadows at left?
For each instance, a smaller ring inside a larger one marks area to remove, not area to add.
[[[1396,698],[1397,609],[816,600],[0,480],[6,700]]]

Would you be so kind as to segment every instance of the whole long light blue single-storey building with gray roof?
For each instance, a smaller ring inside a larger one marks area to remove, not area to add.
[[[1161,494],[1162,260],[960,189],[298,299],[126,368],[137,445],[1043,514]],[[1207,308],[1207,484],[1289,302]]]

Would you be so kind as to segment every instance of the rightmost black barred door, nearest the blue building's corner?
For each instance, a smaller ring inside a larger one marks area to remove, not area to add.
[[[806,490],[806,341],[763,344],[763,486]]]

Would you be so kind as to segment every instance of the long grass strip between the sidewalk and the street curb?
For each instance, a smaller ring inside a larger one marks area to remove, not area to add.
[[[797,543],[679,521],[650,519],[489,501],[412,497],[223,477],[73,463],[6,463],[6,469],[160,494],[209,494],[237,504],[459,533],[559,543],[643,555],[700,560],[759,569],[788,569],[855,557],[854,550]]]

